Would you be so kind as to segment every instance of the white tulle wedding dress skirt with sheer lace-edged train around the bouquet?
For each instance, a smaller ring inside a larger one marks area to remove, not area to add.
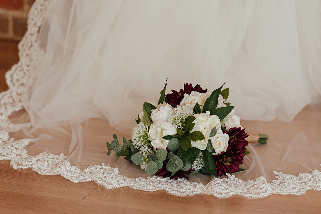
[[[319,1],[37,0],[0,95],[0,159],[73,182],[177,195],[320,190],[321,142],[303,132],[249,145],[247,170],[226,179],[148,177],[107,157],[105,144],[114,132],[130,138],[143,103],[157,102],[167,78],[167,93],[225,83],[243,120],[291,121],[321,101],[320,11]],[[272,182],[273,170],[293,176]]]

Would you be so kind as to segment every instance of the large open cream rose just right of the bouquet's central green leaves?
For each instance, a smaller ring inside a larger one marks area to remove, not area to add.
[[[206,111],[205,113],[194,114],[193,115],[196,119],[193,121],[195,126],[192,130],[200,131],[205,139],[201,141],[192,141],[192,147],[199,148],[200,150],[206,149],[206,145],[210,136],[210,133],[214,127],[217,130],[221,129],[221,122],[217,115],[210,115],[210,111]]]

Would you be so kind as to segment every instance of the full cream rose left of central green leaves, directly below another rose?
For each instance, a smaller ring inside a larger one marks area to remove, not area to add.
[[[148,132],[149,140],[152,141],[152,146],[157,149],[165,149],[168,144],[168,140],[163,139],[163,136],[176,135],[176,128],[165,120],[158,120],[154,122]]]

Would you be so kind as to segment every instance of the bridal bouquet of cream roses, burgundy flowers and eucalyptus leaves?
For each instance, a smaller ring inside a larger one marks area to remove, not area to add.
[[[147,172],[174,179],[188,178],[200,172],[221,176],[242,171],[247,151],[247,133],[239,117],[226,100],[229,88],[213,92],[200,85],[184,84],[179,92],[165,96],[167,83],[160,92],[158,106],[144,103],[143,112],[133,128],[132,139],[123,138],[121,146],[116,135],[107,143],[108,156],[116,152]],[[266,144],[268,136],[256,135]]]

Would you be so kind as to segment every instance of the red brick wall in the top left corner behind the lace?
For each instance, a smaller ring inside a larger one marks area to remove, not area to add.
[[[0,0],[0,39],[21,40],[35,0]]]

